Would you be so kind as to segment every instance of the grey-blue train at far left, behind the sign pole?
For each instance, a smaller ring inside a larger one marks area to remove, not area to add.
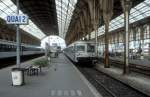
[[[21,44],[20,49],[21,49],[20,52],[21,56],[44,53],[44,50],[42,50],[38,46],[33,45]],[[16,42],[0,40],[0,59],[15,56],[16,56]]]

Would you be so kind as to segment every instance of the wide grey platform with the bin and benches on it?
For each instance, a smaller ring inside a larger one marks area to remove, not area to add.
[[[22,66],[32,62],[24,62]],[[38,76],[25,75],[23,86],[11,85],[13,67],[0,70],[1,97],[102,97],[63,54],[52,58],[50,66]]]

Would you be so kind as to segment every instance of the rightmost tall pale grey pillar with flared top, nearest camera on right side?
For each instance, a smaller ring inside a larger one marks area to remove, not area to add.
[[[124,25],[125,25],[123,74],[128,74],[129,73],[129,14],[130,14],[131,1],[122,0],[121,4],[124,11]]]

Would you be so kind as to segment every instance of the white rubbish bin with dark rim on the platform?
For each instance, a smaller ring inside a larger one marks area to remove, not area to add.
[[[12,85],[21,86],[24,84],[24,70],[22,68],[12,68]]]

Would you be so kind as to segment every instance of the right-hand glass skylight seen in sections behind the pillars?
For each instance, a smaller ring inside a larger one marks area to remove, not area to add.
[[[144,19],[150,16],[150,0],[145,0],[144,2],[138,4],[130,11],[130,18],[129,22],[134,23],[138,20]],[[116,17],[115,19],[111,20],[109,26],[109,32],[121,28],[124,26],[124,14]],[[98,28],[98,36],[104,34],[104,25]],[[91,38],[95,38],[94,31],[91,32]]]

